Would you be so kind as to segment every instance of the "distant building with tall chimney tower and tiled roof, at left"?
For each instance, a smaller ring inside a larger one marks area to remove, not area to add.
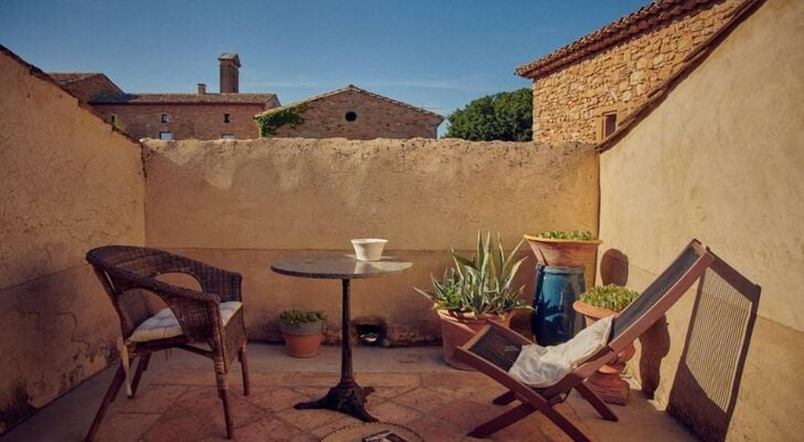
[[[240,57],[220,61],[220,93],[127,94],[100,73],[51,73],[62,87],[85,101],[109,123],[134,138],[256,138],[253,116],[279,106],[275,94],[239,92]]]

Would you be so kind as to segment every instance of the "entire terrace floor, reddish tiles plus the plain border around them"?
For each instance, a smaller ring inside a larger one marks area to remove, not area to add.
[[[359,421],[326,410],[295,410],[293,404],[322,396],[338,380],[340,348],[322,347],[311,359],[285,355],[283,346],[251,344],[252,393],[242,396],[240,366],[230,373],[233,419],[239,441],[317,441]],[[425,441],[474,441],[467,430],[504,409],[490,403],[501,387],[476,372],[458,371],[441,359],[441,347],[356,347],[358,382],[372,386],[368,411],[402,424]],[[87,380],[7,433],[3,441],[82,440],[108,387],[114,368]],[[692,441],[667,413],[638,391],[627,407],[614,407],[620,422],[607,422],[578,394],[561,411],[597,441]],[[223,412],[209,359],[173,351],[156,355],[135,399],[120,392],[100,428],[100,441],[223,441]],[[500,431],[493,441],[569,441],[542,415]]]

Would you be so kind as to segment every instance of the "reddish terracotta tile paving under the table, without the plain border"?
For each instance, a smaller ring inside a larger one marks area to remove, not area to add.
[[[317,399],[338,382],[331,372],[254,372],[252,392],[243,397],[234,373],[231,403],[237,441],[318,441],[357,419],[328,410],[295,410],[294,403]],[[425,441],[470,441],[475,425],[507,407],[491,399],[501,392],[476,372],[363,372],[362,386],[372,386],[368,411],[382,422],[398,423]],[[118,399],[99,432],[99,441],[219,441],[225,440],[221,402],[212,373],[165,371],[127,400]],[[562,412],[583,427],[569,406]],[[585,428],[585,427],[584,427]],[[586,429],[588,431],[589,429]],[[569,441],[543,417],[530,417],[487,441]]]

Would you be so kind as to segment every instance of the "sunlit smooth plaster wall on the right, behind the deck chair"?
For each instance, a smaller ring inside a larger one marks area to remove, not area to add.
[[[601,238],[627,256],[628,285],[644,288],[698,238],[762,286],[728,440],[804,433],[803,33],[804,3],[768,0],[601,157]],[[662,403],[692,297],[668,315]]]

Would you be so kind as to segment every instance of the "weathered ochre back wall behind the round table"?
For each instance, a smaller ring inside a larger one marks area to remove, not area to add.
[[[320,308],[339,328],[338,281],[278,275],[282,254],[349,251],[385,238],[413,270],[352,284],[352,318],[379,316],[398,344],[441,334],[413,286],[470,250],[478,230],[510,249],[523,233],[594,230],[597,164],[589,146],[463,140],[264,138],[145,141],[147,242],[244,275],[248,336],[277,340],[285,308]],[[527,248],[527,246],[526,246]],[[526,251],[528,255],[529,251]],[[522,283],[532,286],[533,260]],[[532,292],[530,292],[532,293]]]

